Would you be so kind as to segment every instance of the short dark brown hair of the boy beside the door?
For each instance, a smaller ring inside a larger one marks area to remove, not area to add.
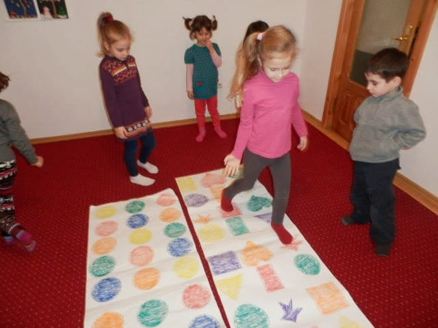
[[[365,72],[380,75],[385,81],[400,77],[402,79],[409,66],[406,53],[396,48],[386,48],[374,55],[365,68]]]

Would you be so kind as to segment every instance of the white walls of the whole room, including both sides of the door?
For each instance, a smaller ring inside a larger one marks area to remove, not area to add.
[[[1,4],[1,3],[0,3]],[[109,10],[133,29],[136,56],[155,122],[194,118],[185,94],[183,53],[192,42],[182,16],[215,14],[214,41],[222,51],[220,113],[235,109],[226,100],[234,55],[248,23],[284,24],[301,52],[293,70],[301,80],[301,104],[322,119],[342,0],[93,0],[67,1],[68,20],[6,22],[0,19],[0,71],[10,74],[1,97],[18,109],[29,137],[52,137],[110,128],[99,89],[96,18]],[[0,5],[0,18],[5,17]],[[402,153],[401,174],[438,196],[438,18],[435,18],[411,98],[420,106],[428,135]]]

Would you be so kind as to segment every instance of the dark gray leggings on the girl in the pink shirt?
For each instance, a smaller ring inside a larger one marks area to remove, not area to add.
[[[233,184],[224,189],[224,193],[225,196],[231,200],[237,193],[252,189],[261,171],[267,166],[274,180],[271,221],[275,224],[283,224],[287,202],[289,202],[290,182],[292,178],[289,152],[276,159],[266,159],[266,157],[259,156],[246,149],[244,153],[244,177],[235,180]]]

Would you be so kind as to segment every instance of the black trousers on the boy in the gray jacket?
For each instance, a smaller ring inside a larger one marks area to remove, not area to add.
[[[350,197],[355,209],[351,217],[357,223],[371,223],[370,236],[378,245],[391,245],[396,237],[393,182],[398,169],[398,159],[385,163],[355,161]]]

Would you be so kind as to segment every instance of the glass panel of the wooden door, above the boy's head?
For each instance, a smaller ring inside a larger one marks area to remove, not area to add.
[[[350,79],[366,86],[363,74],[367,61],[384,48],[399,48],[400,41],[391,37],[403,36],[411,0],[365,0],[365,8],[355,55],[350,70]]]

